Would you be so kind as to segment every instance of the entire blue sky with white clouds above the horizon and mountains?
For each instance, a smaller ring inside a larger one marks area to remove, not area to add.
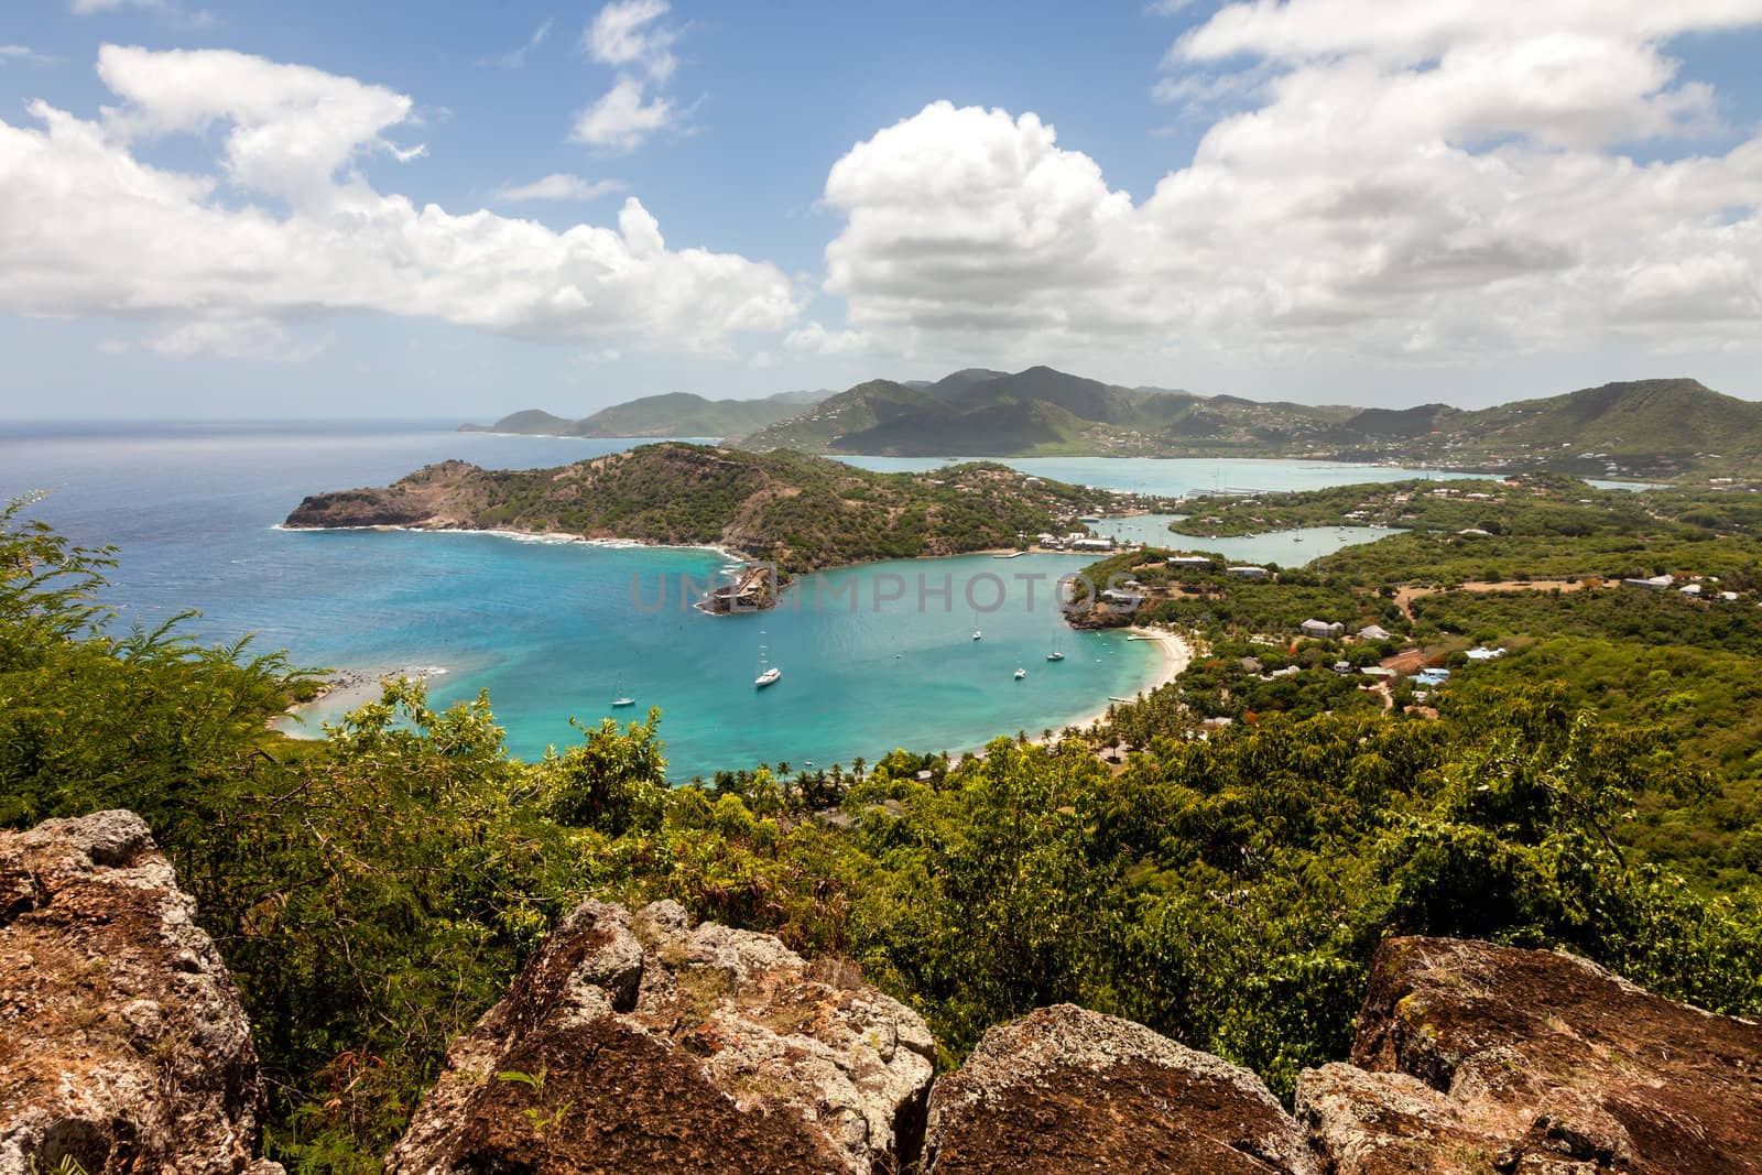
[[[7,0],[0,418],[1762,398],[1762,0]]]

